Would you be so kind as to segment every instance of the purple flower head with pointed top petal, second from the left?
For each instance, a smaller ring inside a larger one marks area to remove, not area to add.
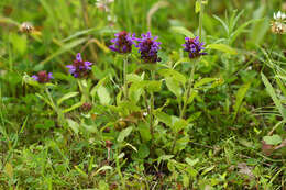
[[[67,65],[69,68],[69,74],[72,74],[75,78],[84,78],[91,70],[92,63],[84,62],[80,53],[77,54],[76,59],[73,65]]]

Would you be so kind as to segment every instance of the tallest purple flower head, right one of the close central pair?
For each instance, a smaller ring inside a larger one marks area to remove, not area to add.
[[[161,62],[161,58],[158,57],[157,53],[158,49],[161,49],[160,45],[162,43],[156,42],[158,37],[153,37],[151,32],[142,34],[141,36],[142,38],[138,38],[139,44],[136,45],[136,47],[139,47],[139,52],[141,53],[141,58],[145,63]]]

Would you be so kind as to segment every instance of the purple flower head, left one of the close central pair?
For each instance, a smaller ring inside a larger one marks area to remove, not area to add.
[[[112,38],[110,41],[113,44],[110,45],[109,48],[121,54],[131,53],[132,45],[135,44],[135,34],[132,34],[131,36],[130,33],[122,31],[118,34],[114,34],[114,36],[117,38]]]

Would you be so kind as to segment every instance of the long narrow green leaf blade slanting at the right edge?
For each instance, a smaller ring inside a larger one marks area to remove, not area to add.
[[[274,88],[272,87],[270,80],[265,77],[265,75],[263,72],[261,72],[262,76],[262,80],[266,87],[267,92],[270,93],[272,100],[274,101],[276,108],[279,110],[282,116],[284,118],[284,120],[286,120],[286,112],[285,112],[285,108],[283,108],[282,102],[279,101],[279,99],[277,98]]]

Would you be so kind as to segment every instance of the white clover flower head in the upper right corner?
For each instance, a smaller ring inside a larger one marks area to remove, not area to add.
[[[272,32],[276,34],[284,34],[286,32],[286,14],[278,11],[273,15]]]

